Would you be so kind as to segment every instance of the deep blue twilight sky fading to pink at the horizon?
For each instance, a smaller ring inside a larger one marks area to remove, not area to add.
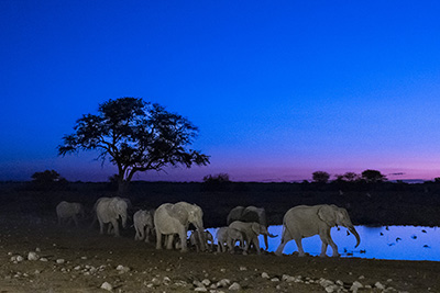
[[[188,117],[211,156],[135,179],[440,177],[439,14],[439,1],[0,1],[0,180],[106,181],[111,165],[56,146],[120,97]]]

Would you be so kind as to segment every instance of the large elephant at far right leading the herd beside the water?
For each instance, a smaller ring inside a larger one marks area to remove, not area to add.
[[[336,205],[298,205],[292,207],[284,215],[283,219],[283,236],[282,243],[275,251],[275,255],[280,256],[283,249],[288,241],[295,240],[299,256],[305,256],[301,239],[319,234],[322,241],[320,257],[326,257],[328,245],[333,250],[333,257],[339,257],[338,246],[334,244],[330,235],[331,227],[344,226],[356,237],[356,245],[361,243],[356,229],[351,223],[349,213],[345,209]]]

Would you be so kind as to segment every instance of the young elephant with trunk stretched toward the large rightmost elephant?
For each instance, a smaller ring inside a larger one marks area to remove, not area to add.
[[[243,234],[244,237],[243,255],[248,255],[248,250],[251,245],[254,245],[256,248],[256,253],[261,255],[260,240],[258,240],[260,234],[266,235],[272,238],[276,237],[276,235],[270,234],[265,226],[255,222],[246,223],[242,221],[234,221],[228,227],[229,227],[228,234],[231,233],[231,229],[241,232]],[[232,241],[229,241],[228,246],[232,253],[233,252]]]

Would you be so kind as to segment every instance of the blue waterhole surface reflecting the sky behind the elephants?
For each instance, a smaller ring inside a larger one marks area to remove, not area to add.
[[[270,226],[272,234],[278,235],[270,238],[268,251],[275,251],[280,243],[283,226]],[[361,245],[354,249],[356,239],[348,235],[348,229],[341,227],[331,229],[331,236],[338,245],[341,257],[358,257],[370,259],[395,259],[395,260],[432,260],[440,261],[440,232],[438,227],[420,226],[389,226],[367,227],[355,226],[361,236]],[[217,228],[209,228],[216,235]],[[260,236],[260,244],[263,245],[263,237]],[[307,253],[318,256],[321,250],[319,236],[302,239],[302,247]],[[297,251],[294,240],[289,241],[285,255]],[[331,248],[328,247],[327,255],[331,256]]]

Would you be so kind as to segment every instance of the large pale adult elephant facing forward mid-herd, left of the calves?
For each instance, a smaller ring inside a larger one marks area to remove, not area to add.
[[[188,251],[187,233],[189,224],[193,224],[197,232],[201,249],[205,250],[201,233],[204,228],[204,212],[200,206],[187,202],[164,203],[154,213],[154,227],[156,229],[156,249],[162,249],[162,235],[167,236],[166,249],[173,249],[174,235],[178,234],[182,243],[182,252]]]

